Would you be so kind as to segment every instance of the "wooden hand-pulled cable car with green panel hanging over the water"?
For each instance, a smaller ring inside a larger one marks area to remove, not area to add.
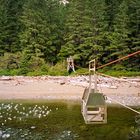
[[[91,88],[91,73],[94,72],[94,89]],[[102,93],[97,92],[97,77],[95,74],[95,60],[89,63],[89,87],[84,90],[81,113],[86,124],[107,123],[107,105]]]

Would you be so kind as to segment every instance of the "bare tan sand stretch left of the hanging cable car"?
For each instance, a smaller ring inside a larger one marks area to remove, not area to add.
[[[48,79],[14,78],[0,80],[0,99],[81,99],[84,87]]]

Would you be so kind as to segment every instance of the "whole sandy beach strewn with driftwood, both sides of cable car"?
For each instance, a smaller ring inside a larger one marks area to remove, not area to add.
[[[0,99],[81,100],[88,77],[0,77]],[[92,84],[94,86],[94,82]],[[127,105],[140,105],[140,78],[99,77],[98,90]],[[108,100],[107,102],[112,103]]]

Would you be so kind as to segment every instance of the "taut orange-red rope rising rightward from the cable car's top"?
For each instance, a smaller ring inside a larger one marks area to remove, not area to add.
[[[105,66],[111,65],[111,64],[113,64],[113,63],[116,63],[116,62],[118,62],[118,61],[120,61],[120,60],[126,59],[126,58],[128,58],[128,57],[131,57],[131,56],[136,55],[136,54],[139,54],[139,53],[140,53],[140,51],[134,52],[134,53],[132,53],[132,54],[128,54],[127,56],[124,56],[124,57],[119,58],[119,59],[117,59],[117,60],[111,61],[111,62],[109,62],[109,63],[107,63],[107,64],[101,65],[101,66],[97,67],[96,69],[103,68],[103,67],[105,67]]]

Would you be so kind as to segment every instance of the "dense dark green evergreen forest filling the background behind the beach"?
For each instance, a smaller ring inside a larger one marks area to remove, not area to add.
[[[64,74],[140,50],[140,0],[0,0],[0,73]],[[109,69],[139,71],[140,55]],[[62,72],[62,73],[61,73]]]

